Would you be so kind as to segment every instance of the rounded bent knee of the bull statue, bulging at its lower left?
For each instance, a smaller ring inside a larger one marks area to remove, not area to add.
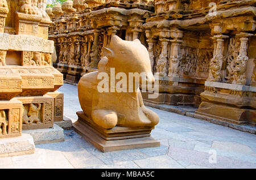
[[[92,119],[98,126],[107,129],[117,126],[118,121],[117,113],[104,109],[93,110]]]

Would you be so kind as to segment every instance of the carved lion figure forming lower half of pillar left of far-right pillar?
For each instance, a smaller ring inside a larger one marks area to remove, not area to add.
[[[222,59],[223,59],[223,55],[217,54],[210,60],[209,77],[207,79],[208,81],[212,81],[212,82],[221,81],[220,70],[222,67]]]

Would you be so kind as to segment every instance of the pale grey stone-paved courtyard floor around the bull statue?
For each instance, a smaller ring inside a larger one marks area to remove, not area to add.
[[[75,85],[64,84],[64,115],[80,111]],[[73,130],[65,142],[36,145],[34,155],[0,158],[0,168],[256,168],[256,135],[154,109],[156,148],[102,153]]]

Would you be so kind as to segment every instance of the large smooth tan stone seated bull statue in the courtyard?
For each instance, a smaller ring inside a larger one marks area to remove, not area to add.
[[[146,72],[147,81],[155,81],[151,71],[150,57],[147,49],[139,40],[123,41],[113,36],[109,48],[103,49],[105,57],[98,64],[97,72],[82,76],[78,85],[79,101],[82,110],[98,126],[103,128],[122,127],[154,127],[159,122],[159,116],[147,109],[143,104],[141,91],[135,92],[103,92],[97,91],[100,72],[109,74],[110,68],[115,68],[115,75],[124,72]],[[128,82],[128,80],[127,80]],[[139,82],[133,82],[134,85]],[[134,86],[135,87],[135,86]],[[126,87],[128,88],[128,87]]]

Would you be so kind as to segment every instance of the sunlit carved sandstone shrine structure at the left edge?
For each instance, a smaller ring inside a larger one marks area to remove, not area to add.
[[[0,11],[0,138],[53,128],[63,120],[63,74],[52,67],[46,0],[1,0]]]

